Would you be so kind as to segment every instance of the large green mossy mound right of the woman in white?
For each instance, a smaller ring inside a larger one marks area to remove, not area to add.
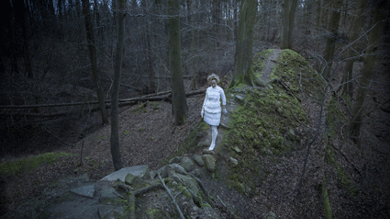
[[[238,106],[222,141],[238,164],[220,169],[226,170],[227,184],[240,192],[255,191],[272,171],[262,160],[277,162],[279,156],[299,148],[304,137],[300,130],[309,122],[301,101],[315,96],[323,85],[316,71],[293,50],[265,50],[253,62],[255,78],[261,81],[256,84],[261,87],[238,85],[225,91],[227,97],[240,97],[230,98],[228,104]]]

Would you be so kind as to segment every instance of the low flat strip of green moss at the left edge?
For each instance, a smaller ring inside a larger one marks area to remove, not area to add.
[[[2,164],[0,164],[0,171],[4,174],[18,174],[22,173],[24,171],[34,169],[41,164],[47,163],[52,164],[54,163],[58,158],[64,157],[64,156],[76,156],[75,154],[67,154],[67,153],[45,153],[40,154],[34,157],[26,157],[26,158],[20,158],[16,161],[6,161]]]

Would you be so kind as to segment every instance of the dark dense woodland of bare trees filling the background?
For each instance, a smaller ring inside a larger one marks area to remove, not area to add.
[[[179,2],[185,90],[197,90],[211,72],[223,76],[234,67],[241,1]],[[87,10],[83,11],[83,4]],[[34,150],[15,147],[28,140],[26,132],[60,136],[72,127],[69,118],[98,110],[96,90],[110,99],[118,40],[116,4],[109,0],[1,2],[0,137],[8,139],[3,140],[2,156]],[[167,1],[125,4],[120,99],[170,90]],[[378,14],[381,17],[375,17]],[[384,68],[390,64],[386,1],[259,0],[255,17],[253,52],[289,48],[300,53],[324,80],[336,80],[353,123],[354,108],[362,111],[359,96],[365,96],[367,85],[375,81],[368,77],[362,84],[364,72],[353,68],[353,63],[363,65],[371,57]],[[370,41],[370,31],[379,26],[377,38]],[[358,87],[366,90],[360,95]],[[77,135],[81,137],[86,129]]]

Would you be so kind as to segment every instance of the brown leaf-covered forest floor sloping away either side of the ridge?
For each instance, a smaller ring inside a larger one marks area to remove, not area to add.
[[[334,171],[328,183],[333,218],[390,216],[390,75],[379,64],[373,78],[378,83],[372,84],[367,99],[368,111],[372,112],[363,124],[360,147],[350,140],[344,143],[334,140],[339,152],[337,161],[346,170],[352,185],[358,188],[359,192],[353,195],[348,192],[348,188],[344,188],[337,180],[338,173]],[[187,102],[186,123],[178,127],[173,125],[171,104],[168,102],[148,102],[121,107],[119,130],[123,166],[147,164],[149,169],[156,170],[166,164],[201,119],[203,96],[189,97]],[[313,108],[309,101],[303,107],[312,123],[310,126],[315,127],[318,108]],[[79,133],[82,127],[85,127],[85,121],[90,125],[84,128],[85,137],[80,139]],[[8,208],[12,215],[18,215],[18,212],[22,211],[39,215],[39,210],[50,204],[50,198],[61,192],[56,183],[62,178],[87,172],[91,180],[99,180],[114,171],[110,151],[110,125],[101,126],[100,123],[100,114],[95,112],[88,118],[72,120],[70,125],[62,130],[61,135],[55,138],[50,134],[29,136],[29,143],[50,145],[55,142],[59,146],[44,149],[41,147],[39,150],[30,151],[28,155],[62,152],[77,156],[61,157],[50,165],[45,164],[18,175],[6,176]],[[319,137],[312,149],[321,149],[323,145],[324,138]],[[305,155],[306,149],[302,149],[293,152],[290,157],[282,157],[275,165],[275,175],[265,179],[258,188],[259,193],[253,197],[231,193],[223,182],[216,180],[205,179],[205,184],[211,193],[224,193],[224,197],[231,194],[228,202],[236,206],[242,218],[265,218],[270,211],[275,212],[277,218],[323,217],[323,205],[319,195],[323,180],[321,161],[314,152],[310,154],[303,185],[294,190],[301,176]],[[2,163],[16,158],[18,157],[7,156],[2,159]]]

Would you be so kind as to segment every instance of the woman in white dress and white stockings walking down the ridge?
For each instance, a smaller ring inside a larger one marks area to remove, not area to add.
[[[206,97],[203,101],[203,107],[201,116],[203,120],[210,126],[211,129],[211,145],[209,150],[212,151],[215,147],[215,139],[217,138],[217,126],[221,121],[221,103],[222,100],[222,111],[224,114],[226,111],[226,97],[223,89],[217,85],[219,77],[212,74],[207,77],[208,83],[211,85],[206,90]]]

